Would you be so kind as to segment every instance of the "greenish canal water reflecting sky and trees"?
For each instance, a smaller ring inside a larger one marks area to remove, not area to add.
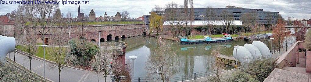
[[[291,29],[292,30],[292,29]],[[146,61],[148,56],[154,52],[156,37],[140,35],[136,37],[130,37],[121,39],[120,41],[127,42],[126,48],[126,61],[131,61],[129,56],[136,55],[135,59],[134,77],[147,77]],[[222,55],[233,57],[233,46],[241,45],[245,43],[251,44],[252,41],[234,40],[226,43],[209,43],[209,44],[189,44],[181,45],[180,42],[171,40],[165,40],[166,44],[171,46],[170,51],[175,51],[178,57],[172,60],[178,61],[178,64],[174,64],[174,76],[191,74],[195,72],[206,71],[212,67],[215,62],[215,58],[211,56],[211,51],[220,47]],[[260,40],[264,42],[269,49],[271,49],[271,40]],[[294,43],[295,37],[288,44]]]

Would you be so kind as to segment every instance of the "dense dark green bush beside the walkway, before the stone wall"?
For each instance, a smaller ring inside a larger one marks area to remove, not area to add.
[[[77,39],[69,41],[69,45],[70,53],[76,57],[72,62],[73,65],[83,67],[89,66],[91,58],[93,58],[95,53],[99,51],[97,45]]]

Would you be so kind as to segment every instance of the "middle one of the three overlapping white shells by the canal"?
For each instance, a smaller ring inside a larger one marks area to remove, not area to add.
[[[256,46],[254,46],[254,45],[252,45],[252,44],[244,44],[243,47],[245,47],[246,49],[248,49],[248,51],[252,54],[254,60],[256,60],[256,59],[262,57],[262,55],[261,55],[259,49],[258,49]]]

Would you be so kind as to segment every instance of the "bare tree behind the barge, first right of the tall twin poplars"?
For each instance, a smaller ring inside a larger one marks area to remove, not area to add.
[[[207,25],[207,28],[208,29],[208,33],[209,35],[211,36],[212,35],[212,29],[214,28],[214,23],[215,23],[215,19],[216,19],[216,12],[214,11],[213,8],[211,7],[207,7],[206,8],[206,12],[205,12],[205,20],[206,20],[206,25]]]

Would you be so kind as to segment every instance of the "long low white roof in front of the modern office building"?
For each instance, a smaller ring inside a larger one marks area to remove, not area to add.
[[[180,24],[183,24],[185,22],[186,21],[164,21],[163,25],[171,25],[171,24],[180,25]],[[194,20],[194,21],[192,21],[192,25],[207,25],[207,22],[208,21]],[[212,21],[212,22],[213,22],[213,25],[223,25],[223,23],[225,21]],[[231,23],[232,23],[232,25],[243,25],[242,21],[232,21]],[[190,25],[190,24],[191,24],[191,22],[187,21],[187,25]]]

